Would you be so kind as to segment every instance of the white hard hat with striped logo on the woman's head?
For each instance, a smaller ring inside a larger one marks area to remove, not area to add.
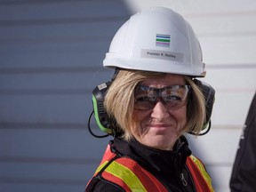
[[[180,14],[155,7],[134,14],[119,28],[104,67],[205,76],[196,35]]]

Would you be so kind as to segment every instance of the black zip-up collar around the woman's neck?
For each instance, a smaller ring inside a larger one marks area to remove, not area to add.
[[[125,141],[120,138],[114,139],[112,148],[115,148],[113,151],[116,150],[116,153],[121,156],[131,157],[152,173],[161,173],[171,177],[180,175],[187,157],[191,155],[185,136],[177,140],[172,151],[149,148],[137,140]]]

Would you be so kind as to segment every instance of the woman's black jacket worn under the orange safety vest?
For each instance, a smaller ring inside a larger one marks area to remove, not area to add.
[[[185,165],[187,156],[191,155],[191,151],[188,148],[188,141],[184,136],[181,136],[180,140],[176,142],[173,151],[148,148],[136,140],[126,142],[115,138],[114,141],[110,140],[110,142],[114,144],[111,144],[113,146],[112,151],[114,150],[123,156],[132,157],[133,160],[160,180],[169,191],[196,191],[188,168]],[[181,172],[185,176],[187,186],[182,184],[180,179]],[[109,183],[107,180],[101,180],[99,177],[96,177],[85,191],[120,192],[124,190],[113,183]]]

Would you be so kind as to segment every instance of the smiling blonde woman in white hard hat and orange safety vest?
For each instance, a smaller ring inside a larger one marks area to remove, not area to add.
[[[183,135],[201,132],[207,110],[195,80],[205,75],[201,49],[187,21],[167,8],[135,14],[103,63],[117,68],[102,129],[114,140],[85,191],[213,191]]]

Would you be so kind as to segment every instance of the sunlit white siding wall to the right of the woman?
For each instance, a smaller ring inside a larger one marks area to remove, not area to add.
[[[202,46],[216,100],[212,130],[190,145],[211,172],[215,191],[228,192],[240,134],[256,91],[256,2],[254,0],[127,0],[133,12],[166,6],[180,12]]]

